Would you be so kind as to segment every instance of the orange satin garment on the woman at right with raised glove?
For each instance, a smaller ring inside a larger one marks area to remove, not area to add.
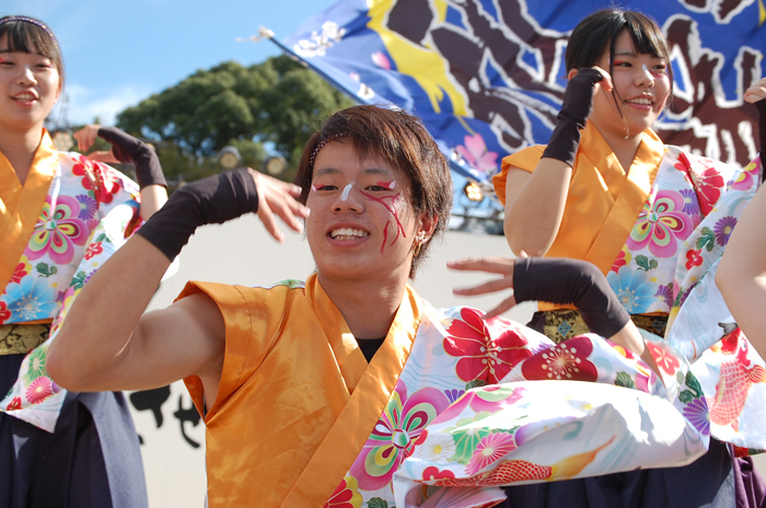
[[[520,150],[502,160],[495,192],[506,204],[506,180],[511,166],[534,172],[545,146]],[[588,122],[572,169],[569,194],[558,234],[548,257],[571,257],[595,264],[605,275],[630,234],[660,169],[665,152],[654,131],[643,139],[626,174],[599,129]],[[541,304],[541,310],[562,305]]]

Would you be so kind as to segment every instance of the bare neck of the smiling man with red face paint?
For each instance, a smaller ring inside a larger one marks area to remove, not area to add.
[[[407,279],[395,275],[381,280],[317,279],[356,337],[385,337],[402,303]]]

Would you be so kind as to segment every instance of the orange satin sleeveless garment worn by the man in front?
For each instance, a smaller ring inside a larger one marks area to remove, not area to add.
[[[189,282],[227,327],[207,425],[210,508],[322,507],[360,453],[409,356],[422,303],[407,287],[368,366],[315,276],[305,288]],[[202,414],[199,378],[184,380]]]

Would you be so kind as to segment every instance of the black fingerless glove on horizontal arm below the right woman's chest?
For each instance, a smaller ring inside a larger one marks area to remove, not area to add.
[[[630,315],[606,277],[592,263],[562,257],[526,257],[513,267],[517,302],[538,300],[571,303],[580,310],[591,332],[602,337],[616,334]]]

